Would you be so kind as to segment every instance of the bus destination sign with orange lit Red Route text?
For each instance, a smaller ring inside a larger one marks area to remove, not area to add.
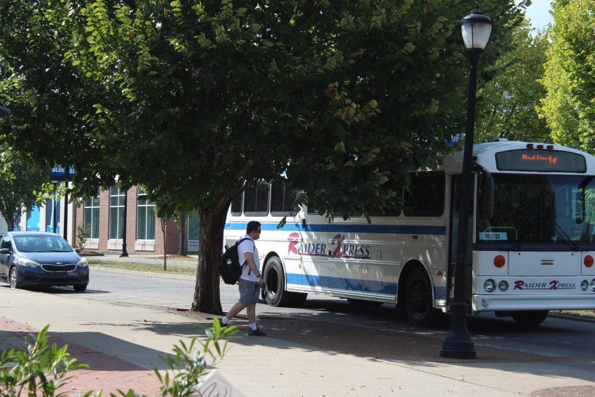
[[[585,158],[577,153],[544,149],[519,149],[496,153],[500,171],[587,172]]]

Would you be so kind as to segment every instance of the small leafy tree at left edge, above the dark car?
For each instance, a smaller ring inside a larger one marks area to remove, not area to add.
[[[8,230],[14,229],[16,217],[23,208],[31,208],[45,201],[40,192],[49,183],[51,167],[38,167],[11,148],[1,155],[2,173],[0,173],[0,214],[8,224]]]

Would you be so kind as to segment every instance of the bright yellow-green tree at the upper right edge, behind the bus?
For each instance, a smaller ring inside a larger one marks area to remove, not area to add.
[[[595,149],[595,0],[555,0],[540,116],[555,143]]]

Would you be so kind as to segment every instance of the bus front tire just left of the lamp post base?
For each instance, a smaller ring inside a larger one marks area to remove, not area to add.
[[[439,312],[432,304],[432,286],[424,268],[416,267],[405,282],[405,310],[409,321],[427,327],[439,320]]]

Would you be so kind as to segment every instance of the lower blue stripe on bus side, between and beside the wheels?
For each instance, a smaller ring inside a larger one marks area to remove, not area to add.
[[[342,279],[341,277],[313,276],[311,274],[287,273],[287,284],[312,287],[345,289],[349,291],[385,293],[397,295],[397,284],[373,280]],[[446,287],[434,287],[434,299],[446,299]]]

